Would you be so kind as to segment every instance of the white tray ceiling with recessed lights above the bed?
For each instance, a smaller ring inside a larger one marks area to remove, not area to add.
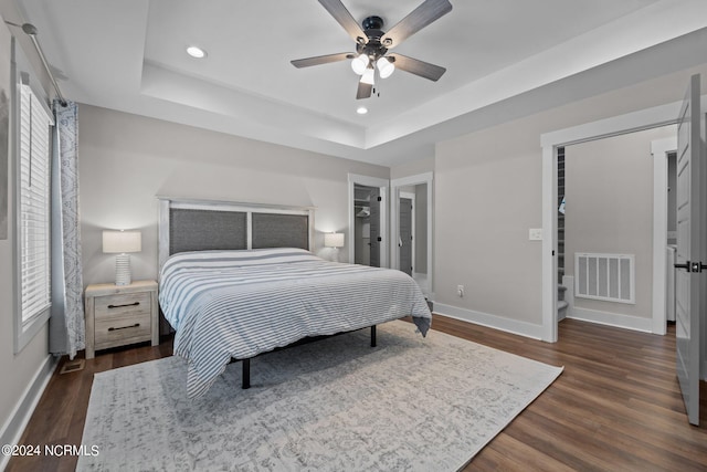
[[[17,1],[70,99],[381,165],[431,156],[494,104],[707,28],[705,0],[451,0],[394,50],[445,75],[395,71],[357,101],[348,62],[289,63],[355,49],[316,0]],[[421,2],[344,0],[383,30]],[[188,56],[192,44],[207,59]]]

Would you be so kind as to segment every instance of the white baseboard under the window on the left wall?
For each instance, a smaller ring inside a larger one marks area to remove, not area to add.
[[[24,432],[24,428],[27,428],[27,424],[30,422],[30,418],[32,418],[36,403],[39,403],[40,398],[42,398],[42,394],[54,374],[57,363],[59,358],[52,355],[46,356],[44,363],[42,363],[34,374],[30,385],[24,389],[22,398],[18,401],[12,415],[10,415],[10,418],[8,418],[6,423],[2,426],[2,431],[0,432],[0,444],[19,443],[20,438]],[[1,455],[0,470],[4,470],[8,466],[9,461],[9,455]]]

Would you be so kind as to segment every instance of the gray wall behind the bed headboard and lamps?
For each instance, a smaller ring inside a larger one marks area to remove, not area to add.
[[[157,276],[156,196],[314,206],[317,248],[348,227],[348,174],[389,178],[381,166],[331,158],[137,115],[78,109],[84,282],[114,280],[103,229],[139,229],[133,279]],[[348,244],[349,241],[346,241]],[[325,258],[330,249],[320,249]],[[348,250],[339,250],[347,262]]]

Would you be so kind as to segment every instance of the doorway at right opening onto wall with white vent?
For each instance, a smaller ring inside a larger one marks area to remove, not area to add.
[[[667,214],[656,218],[654,200],[666,198],[667,178],[654,172],[654,160],[667,160],[650,150],[675,135],[667,126],[573,144],[563,147],[563,162],[558,149],[558,199],[566,200],[558,209],[558,282],[569,317],[665,334],[666,269],[655,260],[664,258],[667,231],[657,235],[655,227]]]

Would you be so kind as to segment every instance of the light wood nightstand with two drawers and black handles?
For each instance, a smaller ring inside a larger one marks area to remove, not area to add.
[[[86,359],[96,350],[151,340],[159,344],[157,282],[86,287]]]

